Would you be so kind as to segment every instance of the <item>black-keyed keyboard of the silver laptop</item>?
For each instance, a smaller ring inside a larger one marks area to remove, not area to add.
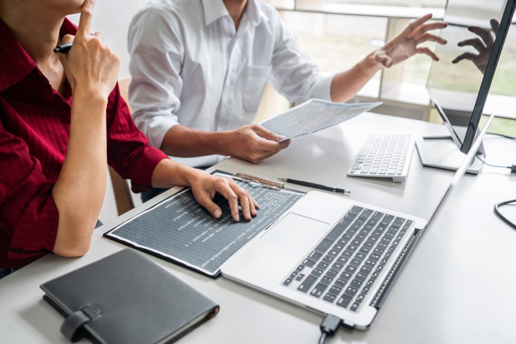
[[[283,285],[357,312],[412,222],[353,206]]]

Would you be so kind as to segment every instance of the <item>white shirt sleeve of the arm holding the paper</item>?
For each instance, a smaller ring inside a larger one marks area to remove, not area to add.
[[[174,27],[179,22],[169,11],[147,8],[136,14],[128,33],[129,103],[136,126],[155,148],[160,148],[167,131],[179,124],[175,112],[181,106],[184,56],[180,29]]]

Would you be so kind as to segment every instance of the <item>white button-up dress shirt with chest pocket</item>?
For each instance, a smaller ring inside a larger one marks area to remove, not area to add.
[[[238,30],[222,0],[153,0],[133,18],[128,47],[133,119],[156,148],[176,124],[250,124],[267,82],[292,103],[330,100],[333,75],[319,72],[262,0],[248,0]],[[171,158],[196,167],[222,157]]]

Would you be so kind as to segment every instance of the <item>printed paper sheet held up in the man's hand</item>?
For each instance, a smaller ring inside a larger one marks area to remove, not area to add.
[[[382,103],[346,104],[311,99],[260,124],[288,140],[345,122],[380,104]]]

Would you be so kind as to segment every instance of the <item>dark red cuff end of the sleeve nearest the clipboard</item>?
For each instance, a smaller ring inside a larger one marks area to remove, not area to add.
[[[138,193],[149,190],[152,187],[152,173],[159,161],[168,159],[168,156],[161,150],[146,145],[138,158],[133,162],[137,166],[138,177],[131,178],[131,190]]]

